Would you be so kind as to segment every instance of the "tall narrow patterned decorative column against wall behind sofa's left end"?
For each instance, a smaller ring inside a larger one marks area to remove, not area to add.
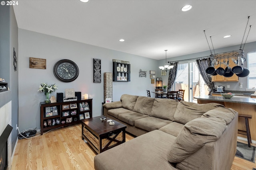
[[[104,72],[104,102],[106,101],[106,98],[113,98],[112,78],[112,72]]]

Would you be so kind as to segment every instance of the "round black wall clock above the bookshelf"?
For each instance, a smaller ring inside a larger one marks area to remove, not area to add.
[[[76,63],[71,60],[64,59],[58,61],[53,67],[54,76],[62,82],[72,82],[76,80],[79,69]]]

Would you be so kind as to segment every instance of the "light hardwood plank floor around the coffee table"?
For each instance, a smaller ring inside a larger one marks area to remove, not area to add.
[[[126,141],[133,138],[126,134]],[[95,155],[81,139],[81,125],[72,125],[32,139],[19,139],[11,170],[94,170]],[[235,156],[231,170],[253,167],[255,163]]]

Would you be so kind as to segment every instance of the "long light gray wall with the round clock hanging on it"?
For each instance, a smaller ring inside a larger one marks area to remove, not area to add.
[[[93,98],[93,116],[102,114],[104,102],[104,72],[112,72],[112,59],[129,61],[131,64],[130,82],[113,82],[113,101],[120,100],[122,94],[146,96],[146,89],[152,91],[149,71],[158,70],[157,61],[104,49],[84,43],[70,41],[50,35],[18,29],[19,38],[19,128],[40,129],[40,102],[45,99],[44,93],[38,92],[40,83],[58,85],[52,93],[65,92],[74,88],[82,94]],[[46,59],[46,70],[29,68],[29,57]],[[93,58],[101,59],[102,82],[93,83]],[[79,76],[73,82],[64,83],[55,78],[54,64],[61,59],[70,59],[79,67]],[[146,78],[139,78],[139,69],[147,71]]]

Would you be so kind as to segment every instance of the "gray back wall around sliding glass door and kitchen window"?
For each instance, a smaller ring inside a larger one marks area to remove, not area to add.
[[[251,35],[251,36],[253,36],[253,35]],[[242,45],[242,47],[243,47],[243,45]],[[240,45],[225,47],[225,48],[221,48],[221,49],[215,49],[215,53],[224,53],[224,52],[234,51],[234,50],[238,50],[238,49],[240,49]],[[248,65],[247,53],[253,52],[253,51],[256,51],[256,42],[246,43],[246,45],[244,47],[244,53],[245,53],[244,56],[246,58],[246,62],[243,64],[243,67],[247,68],[247,65]],[[213,53],[213,50],[212,50],[212,53]],[[199,53],[168,58],[167,61],[180,61],[180,60],[188,60],[189,61],[191,59],[193,59],[195,61],[196,58],[206,57],[209,55],[210,55],[210,51],[203,51],[203,52],[199,52]],[[165,59],[158,61],[159,66],[163,65],[164,63],[165,63]],[[225,88],[225,90],[246,91],[246,88],[248,88],[247,87],[247,82],[248,82],[247,78],[248,77],[239,77],[239,82],[214,82],[214,84],[216,84],[217,86],[226,86],[226,84],[229,84],[230,88]],[[163,80],[163,84],[167,84],[168,76],[162,76],[162,80]],[[239,88],[240,82],[243,83],[243,88]]]

